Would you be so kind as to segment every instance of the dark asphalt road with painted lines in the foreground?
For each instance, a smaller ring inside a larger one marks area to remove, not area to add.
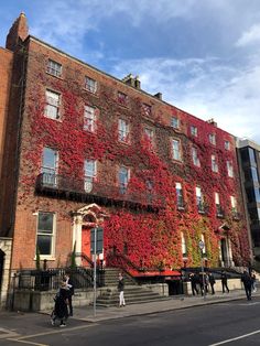
[[[43,314],[0,317],[0,345],[4,346],[260,345],[260,299],[99,323],[72,318],[66,328],[51,326]]]

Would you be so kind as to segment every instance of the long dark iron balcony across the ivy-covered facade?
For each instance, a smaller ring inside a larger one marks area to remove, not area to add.
[[[99,203],[102,205],[147,208],[156,212],[165,206],[162,196],[147,192],[130,191],[127,186],[115,186],[99,182],[88,182],[51,173],[41,173],[36,180],[36,192],[78,202]]]

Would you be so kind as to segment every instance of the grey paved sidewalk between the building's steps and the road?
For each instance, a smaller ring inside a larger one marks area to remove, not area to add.
[[[259,298],[260,291],[252,293],[253,298]],[[245,300],[246,293],[243,290],[230,291],[230,293],[219,293],[217,292],[215,295],[208,294],[204,299],[202,295],[196,296],[169,296],[166,300],[150,302],[150,303],[140,303],[140,304],[131,304],[124,307],[96,307],[96,316],[94,316],[94,306],[80,306],[74,307],[74,316],[69,317],[73,320],[80,320],[87,322],[99,322],[113,318],[122,318],[129,316],[137,315],[147,315],[180,309],[188,309],[193,306],[202,306],[208,304],[219,304],[228,301],[235,300]],[[127,303],[127,302],[126,302]]]

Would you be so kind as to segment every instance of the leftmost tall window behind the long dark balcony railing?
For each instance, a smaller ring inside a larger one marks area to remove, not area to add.
[[[43,174],[44,185],[53,186],[57,184],[57,165],[58,165],[57,151],[51,148],[44,148],[41,170]]]

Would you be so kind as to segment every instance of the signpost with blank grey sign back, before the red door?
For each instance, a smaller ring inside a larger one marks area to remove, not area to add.
[[[94,317],[97,301],[97,253],[102,253],[102,228],[96,226],[90,230],[90,252],[94,255]]]

